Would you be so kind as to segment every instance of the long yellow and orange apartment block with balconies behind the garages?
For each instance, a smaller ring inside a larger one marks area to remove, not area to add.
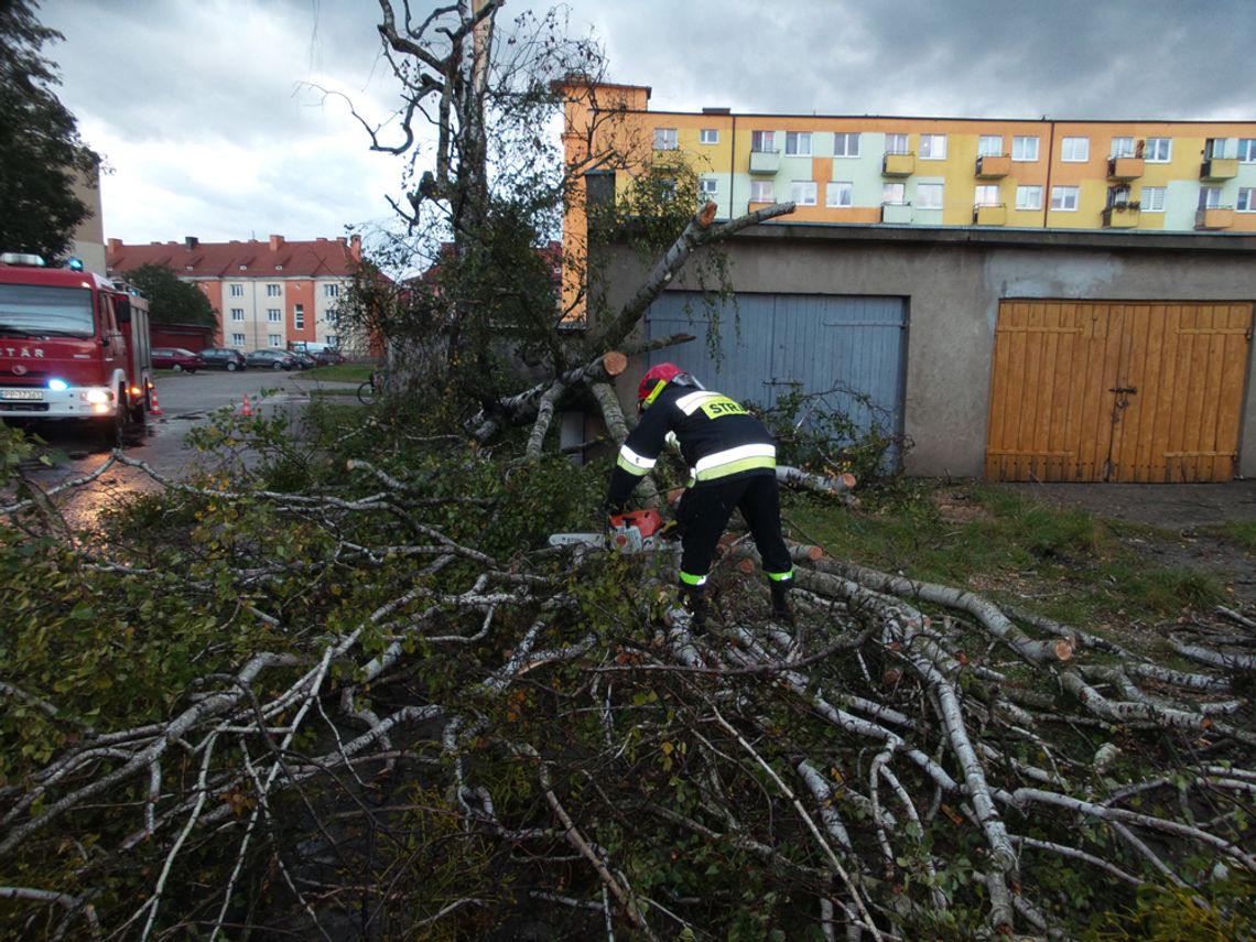
[[[563,90],[569,161],[687,165],[723,219],[793,201],[780,222],[1256,231],[1256,121],[651,112],[646,87]]]

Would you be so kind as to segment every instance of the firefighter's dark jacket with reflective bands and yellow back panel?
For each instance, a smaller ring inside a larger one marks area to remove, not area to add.
[[[608,504],[622,506],[672,440],[690,466],[690,486],[776,475],[776,446],[762,422],[737,402],[710,389],[668,384],[641,416],[619,448]]]

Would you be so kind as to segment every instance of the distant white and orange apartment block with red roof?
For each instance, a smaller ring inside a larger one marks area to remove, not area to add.
[[[315,239],[268,241],[106,245],[111,275],[124,275],[141,265],[165,265],[191,281],[219,311],[219,335],[225,347],[240,350],[284,349],[293,342],[317,342],[354,348],[342,337],[337,308],[355,265],[362,241]]]

